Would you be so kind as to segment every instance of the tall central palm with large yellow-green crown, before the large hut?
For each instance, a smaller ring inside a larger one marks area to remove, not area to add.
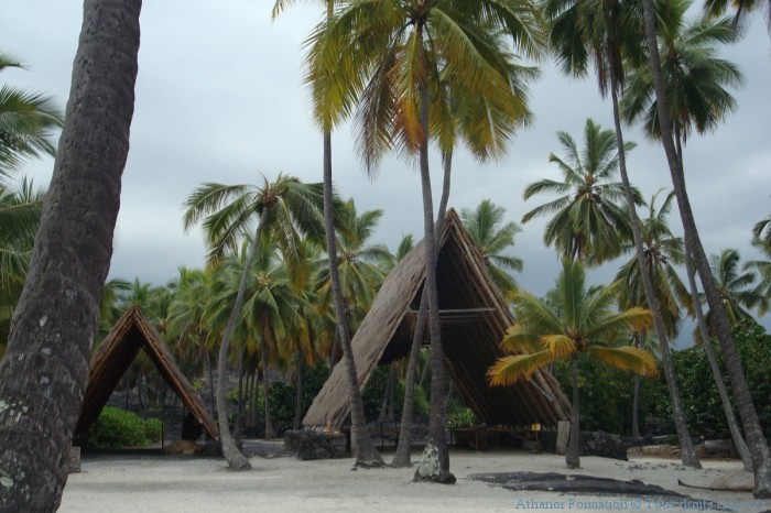
[[[417,155],[420,163],[435,371],[430,448],[438,451],[441,461],[432,479],[454,478],[448,473],[441,402],[443,356],[428,139],[431,132],[441,130],[436,127],[443,127],[442,113],[449,111],[447,95],[452,91],[458,95],[452,101],[476,97],[477,105],[487,105],[488,125],[493,129],[486,132],[495,140],[491,148],[503,146],[522,119],[522,96],[514,86],[521,85],[523,70],[501,52],[499,31],[512,35],[518,48],[534,53],[537,34],[532,22],[536,19],[535,7],[524,2],[352,0],[311,39],[308,80],[317,118],[325,122],[341,119],[361,94],[357,142],[367,168],[373,170],[383,152],[392,148],[410,157]]]

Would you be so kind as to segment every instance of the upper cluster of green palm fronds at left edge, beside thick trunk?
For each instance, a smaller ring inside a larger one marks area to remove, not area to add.
[[[7,67],[24,68],[13,56],[0,52],[0,72]],[[53,98],[10,86],[0,88],[0,185],[22,162],[43,154],[53,156],[53,135],[63,122]]]

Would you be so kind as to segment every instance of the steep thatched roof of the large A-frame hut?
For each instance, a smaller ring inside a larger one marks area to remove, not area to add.
[[[424,253],[421,243],[389,273],[354,337],[360,389],[376,365],[409,354],[425,279]],[[546,371],[512,386],[488,386],[486,372],[507,354],[499,343],[514,319],[454,210],[447,214],[442,232],[436,271],[445,367],[477,418],[488,425],[507,426],[553,426],[569,418],[569,403]],[[316,427],[330,422],[340,426],[350,410],[348,396],[345,362],[340,362],[303,425]]]

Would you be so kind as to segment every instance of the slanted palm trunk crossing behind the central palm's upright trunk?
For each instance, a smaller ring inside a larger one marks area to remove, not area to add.
[[[453,168],[453,153],[446,152],[443,154],[444,179],[442,183],[442,198],[439,199],[439,211],[436,216],[436,226],[434,234],[436,240],[442,236],[444,227],[444,218],[447,211],[447,203],[449,201],[450,172]],[[425,332],[425,321],[428,314],[428,294],[423,287],[421,295],[421,306],[417,309],[417,321],[415,324],[415,332],[412,337],[412,348],[410,349],[410,361],[408,363],[406,380],[404,383],[404,404],[402,405],[402,422],[399,432],[399,444],[397,452],[393,455],[391,467],[409,467],[410,461],[410,435],[412,432],[412,415],[415,411],[415,378],[417,360],[421,353],[421,345],[423,343],[423,334]],[[427,368],[427,367],[426,367]],[[422,378],[422,376],[421,376]],[[421,384],[422,384],[421,379]]]

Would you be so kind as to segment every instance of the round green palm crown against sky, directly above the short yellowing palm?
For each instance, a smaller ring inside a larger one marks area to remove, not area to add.
[[[563,174],[563,182],[541,179],[524,189],[524,199],[541,193],[560,196],[522,217],[522,223],[534,217],[553,216],[546,225],[543,240],[557,251],[586,265],[599,265],[618,256],[631,240],[629,216],[618,201],[623,200],[623,187],[615,182],[619,171],[619,152],[611,130],[602,130],[591,119],[586,120],[584,148],[578,149],[567,132],[557,132],[565,156],[549,156]],[[625,150],[634,148],[627,143]],[[634,189],[634,203],[642,196]]]

